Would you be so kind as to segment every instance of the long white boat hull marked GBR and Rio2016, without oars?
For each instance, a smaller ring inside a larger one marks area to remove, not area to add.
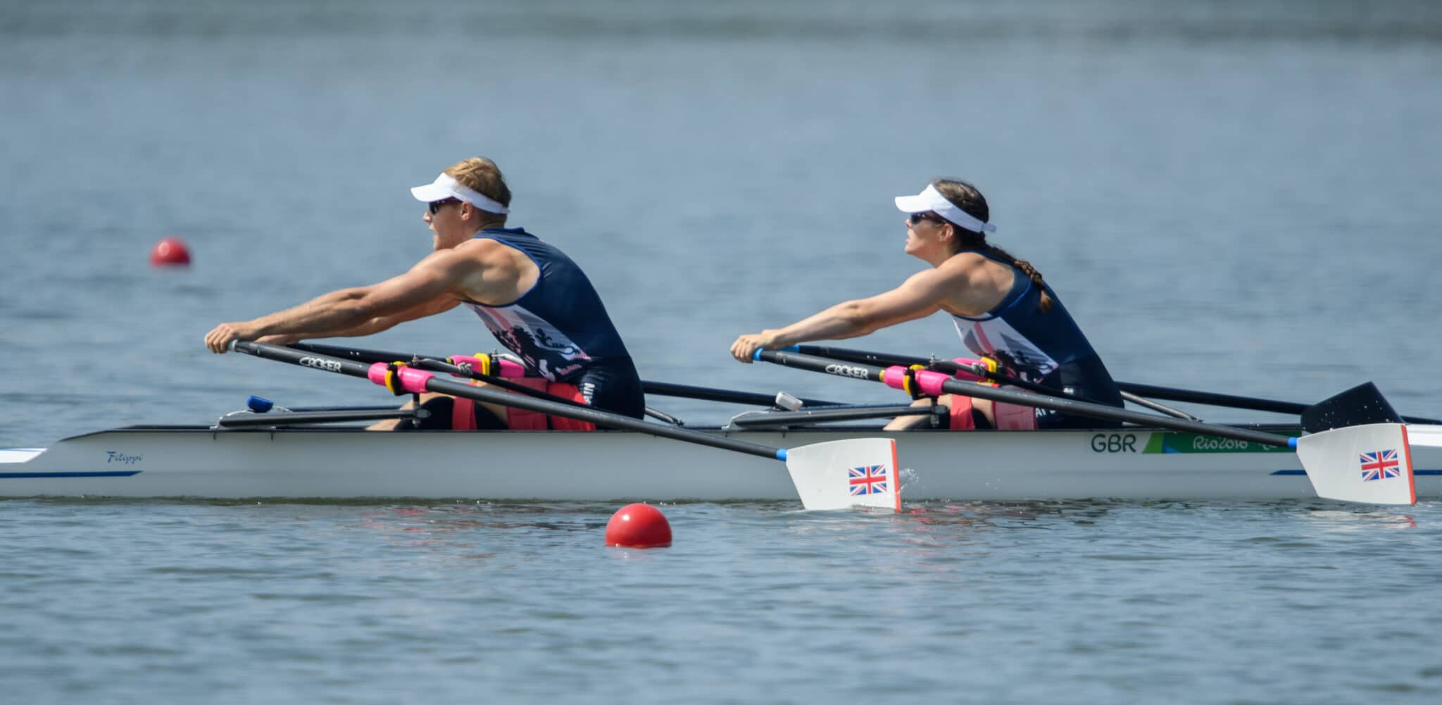
[[[894,438],[904,502],[1317,496],[1289,450],[1168,430],[707,433],[793,448]],[[1407,437],[1417,499],[1442,499],[1442,427],[1410,425]],[[633,431],[128,427],[0,448],[0,496],[795,502],[797,492],[776,460]]]

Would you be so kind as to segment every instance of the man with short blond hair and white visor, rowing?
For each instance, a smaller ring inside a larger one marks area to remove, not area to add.
[[[474,157],[411,189],[425,203],[421,219],[434,252],[410,271],[368,287],[342,288],[284,311],[206,333],[211,352],[231,340],[288,345],[310,337],[366,336],[397,323],[466,304],[500,345],[521,356],[545,392],[642,418],[645,398],[636,365],[611,324],[601,297],[564,252],[523,228],[506,228],[510,189],[500,169]],[[567,428],[588,422],[425,394],[423,428]],[[399,425],[398,425],[399,424]],[[408,428],[382,421],[372,428]]]

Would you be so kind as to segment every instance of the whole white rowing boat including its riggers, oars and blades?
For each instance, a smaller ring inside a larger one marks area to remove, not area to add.
[[[672,424],[512,395],[433,372],[503,385],[503,379],[486,373],[487,360],[476,360],[477,372],[454,360],[421,356],[410,363],[388,363],[384,360],[404,358],[376,350],[251,342],[232,343],[232,349],[366,378],[397,394],[466,396],[591,421],[610,430],[322,428],[314,424],[420,417],[424,411],[273,409],[264,399],[251,399],[245,411],[228,414],[212,427],[128,427],[65,438],[50,448],[0,448],[0,497],[800,500],[806,509],[858,503],[900,509],[901,497],[968,502],[1322,496],[1383,505],[1442,497],[1442,425],[1430,421],[1403,425],[1370,383],[1309,407],[1302,414],[1304,422],[1312,418],[1325,425],[1318,428],[1314,422],[1309,428],[1318,433],[1302,437],[1291,427],[1227,427],[1045,394],[963,385],[949,373],[930,371],[917,371],[914,378],[937,388],[927,392],[932,396],[966,394],[1133,425],[1090,431],[884,433],[818,424],[895,414],[933,415],[936,422],[946,409],[825,402],[796,408],[800,401],[777,396],[776,407],[789,411],[750,411],[734,417],[725,428],[707,430],[681,427],[665,414],[655,415]],[[887,381],[890,373],[859,362],[838,363],[773,350],[758,355],[839,376]],[[368,358],[375,362],[362,362]],[[696,389],[701,388],[679,392]],[[751,396],[702,391],[725,401]]]

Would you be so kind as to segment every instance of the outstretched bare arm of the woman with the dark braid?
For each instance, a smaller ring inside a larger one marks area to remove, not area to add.
[[[790,326],[750,333],[731,343],[731,355],[750,362],[758,347],[784,347],[809,340],[841,340],[872,333],[940,310],[947,288],[957,274],[926,270],[911,275],[900,287],[870,298],[842,301],[831,309],[808,316]]]

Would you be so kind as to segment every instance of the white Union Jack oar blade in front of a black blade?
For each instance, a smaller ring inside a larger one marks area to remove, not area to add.
[[[1306,479],[1318,497],[1373,505],[1416,505],[1407,427],[1367,424],[1296,440]]]

